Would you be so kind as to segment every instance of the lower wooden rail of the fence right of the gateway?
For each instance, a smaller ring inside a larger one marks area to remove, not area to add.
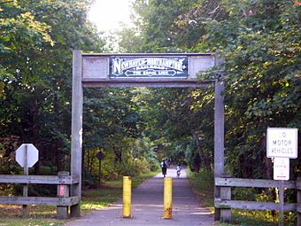
[[[240,200],[220,200],[215,199],[214,206],[217,208],[237,208],[237,209],[258,209],[258,210],[280,210],[279,203],[274,202],[255,202]],[[296,203],[284,204],[284,211],[296,211]]]

